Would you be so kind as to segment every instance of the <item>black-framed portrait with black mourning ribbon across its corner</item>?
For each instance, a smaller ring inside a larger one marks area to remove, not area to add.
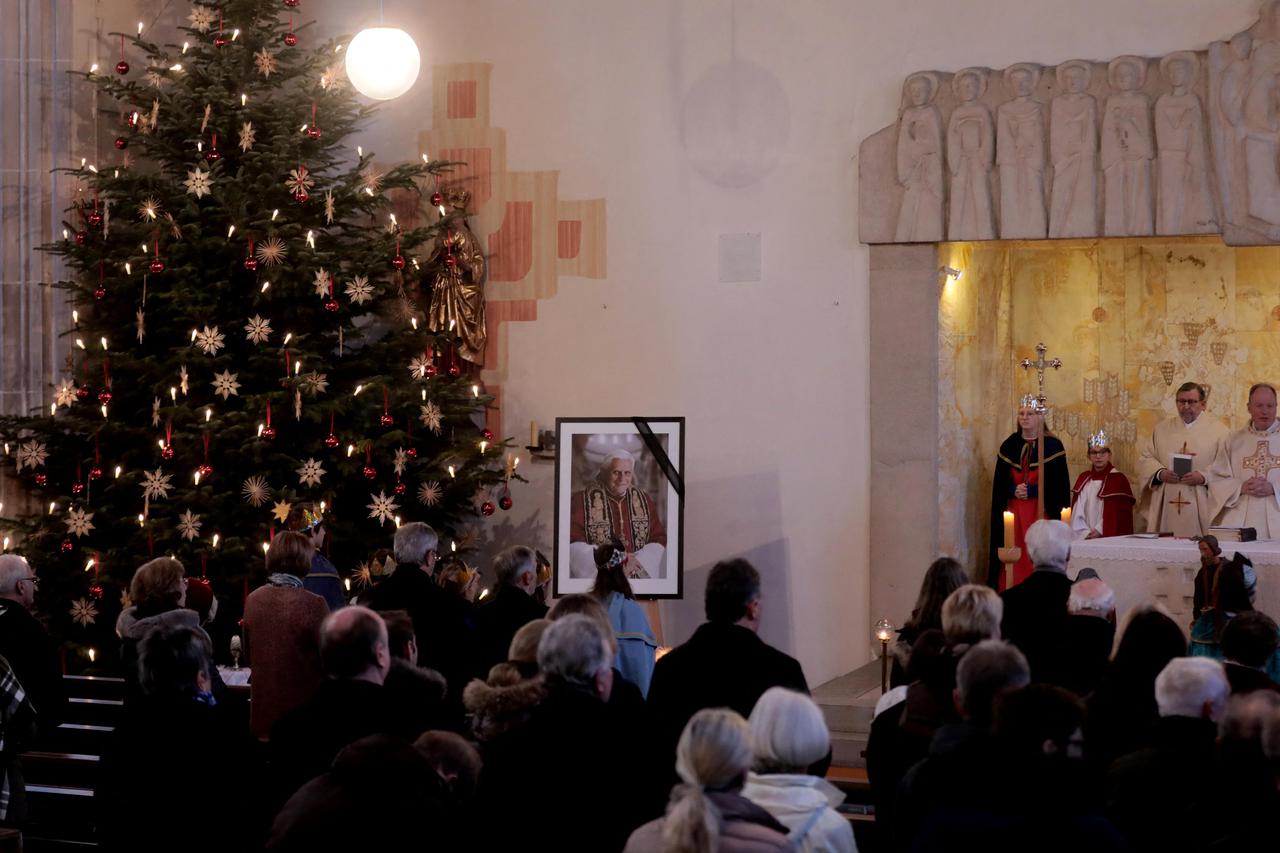
[[[637,598],[678,598],[685,419],[559,418],[556,447],[554,594],[590,592],[603,560]]]

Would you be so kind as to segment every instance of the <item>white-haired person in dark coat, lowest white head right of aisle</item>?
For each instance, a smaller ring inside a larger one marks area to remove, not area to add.
[[[1132,849],[1201,850],[1217,836],[1212,780],[1221,777],[1217,721],[1229,694],[1222,665],[1204,657],[1175,657],[1156,676],[1160,719],[1147,745],[1114,761],[1106,777],[1107,816]]]

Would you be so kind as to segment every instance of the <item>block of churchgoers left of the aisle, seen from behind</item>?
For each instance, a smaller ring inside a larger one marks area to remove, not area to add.
[[[116,625],[124,713],[93,795],[101,849],[856,849],[822,777],[823,713],[758,634],[749,562],[714,566],[707,622],[658,660],[621,540],[594,548],[590,593],[550,607],[531,548],[494,558],[477,603],[475,571],[421,523],[333,602],[321,542],[297,525],[266,551],[242,622],[247,697],[215,666],[209,584],[173,557],[137,569]],[[19,827],[15,758],[67,702],[37,584],[0,556],[0,821]]]

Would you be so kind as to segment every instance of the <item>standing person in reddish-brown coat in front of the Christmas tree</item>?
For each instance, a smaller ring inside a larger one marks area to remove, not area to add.
[[[285,713],[320,686],[320,622],[329,605],[302,588],[311,570],[311,540],[285,530],[266,551],[266,585],[244,601],[244,643],[253,672],[250,729],[266,738]]]

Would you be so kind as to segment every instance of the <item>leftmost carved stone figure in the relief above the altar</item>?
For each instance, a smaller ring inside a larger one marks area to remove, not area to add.
[[[897,214],[896,241],[938,242],[942,240],[942,114],[933,104],[938,79],[918,72],[904,86],[906,106],[897,123],[897,182],[902,205]]]

